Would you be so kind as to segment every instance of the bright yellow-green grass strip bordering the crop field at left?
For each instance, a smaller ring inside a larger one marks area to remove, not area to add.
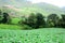
[[[20,30],[20,29],[22,29],[22,27],[21,26],[17,26],[17,25],[0,24],[0,29]]]

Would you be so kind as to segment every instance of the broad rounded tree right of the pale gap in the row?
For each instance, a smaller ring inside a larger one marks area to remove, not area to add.
[[[49,27],[57,27],[60,17],[56,14],[51,14],[48,16],[47,23]]]

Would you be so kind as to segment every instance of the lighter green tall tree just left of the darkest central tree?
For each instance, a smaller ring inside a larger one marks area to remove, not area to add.
[[[37,18],[36,18],[35,13],[31,13],[26,20],[27,25],[32,27],[32,28],[36,27],[36,22],[37,22]]]

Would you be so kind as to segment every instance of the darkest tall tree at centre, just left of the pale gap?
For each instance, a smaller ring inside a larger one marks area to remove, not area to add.
[[[46,27],[44,16],[41,13],[37,13],[36,18],[37,18],[37,22],[36,22],[37,28]]]

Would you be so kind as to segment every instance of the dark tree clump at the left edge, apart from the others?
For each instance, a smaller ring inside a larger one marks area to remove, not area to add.
[[[10,24],[11,23],[11,18],[9,16],[8,13],[2,13],[0,11],[0,24]]]

